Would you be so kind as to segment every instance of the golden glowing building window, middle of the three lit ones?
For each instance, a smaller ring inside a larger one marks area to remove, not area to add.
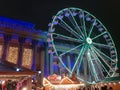
[[[10,46],[7,53],[7,61],[10,63],[17,64],[18,60],[18,47]]]

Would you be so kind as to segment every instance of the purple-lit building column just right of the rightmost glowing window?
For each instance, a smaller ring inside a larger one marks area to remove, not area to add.
[[[32,41],[33,46],[33,62],[32,62],[32,70],[36,71],[36,59],[37,59],[37,47],[38,47],[38,41],[34,40]]]

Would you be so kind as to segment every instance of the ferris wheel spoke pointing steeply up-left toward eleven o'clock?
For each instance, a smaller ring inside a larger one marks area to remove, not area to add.
[[[83,37],[84,37],[83,32],[81,31],[80,27],[78,26],[77,21],[75,20],[74,16],[72,15],[72,12],[70,10],[69,10],[69,12],[70,12],[70,16],[71,16],[71,17],[69,17],[69,20],[71,21],[71,23],[73,24],[75,29],[81,34],[82,39],[83,39]]]

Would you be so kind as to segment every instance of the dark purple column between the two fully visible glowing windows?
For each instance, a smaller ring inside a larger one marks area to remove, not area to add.
[[[22,53],[23,53],[23,44],[25,43],[25,38],[19,38],[19,55],[18,55],[18,66],[22,65]]]

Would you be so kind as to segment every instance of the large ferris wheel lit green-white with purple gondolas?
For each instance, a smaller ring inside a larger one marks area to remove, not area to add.
[[[113,77],[117,51],[105,26],[89,12],[79,8],[59,11],[49,25],[49,48],[64,68],[79,80],[92,83]],[[70,65],[65,56],[70,55]]]

